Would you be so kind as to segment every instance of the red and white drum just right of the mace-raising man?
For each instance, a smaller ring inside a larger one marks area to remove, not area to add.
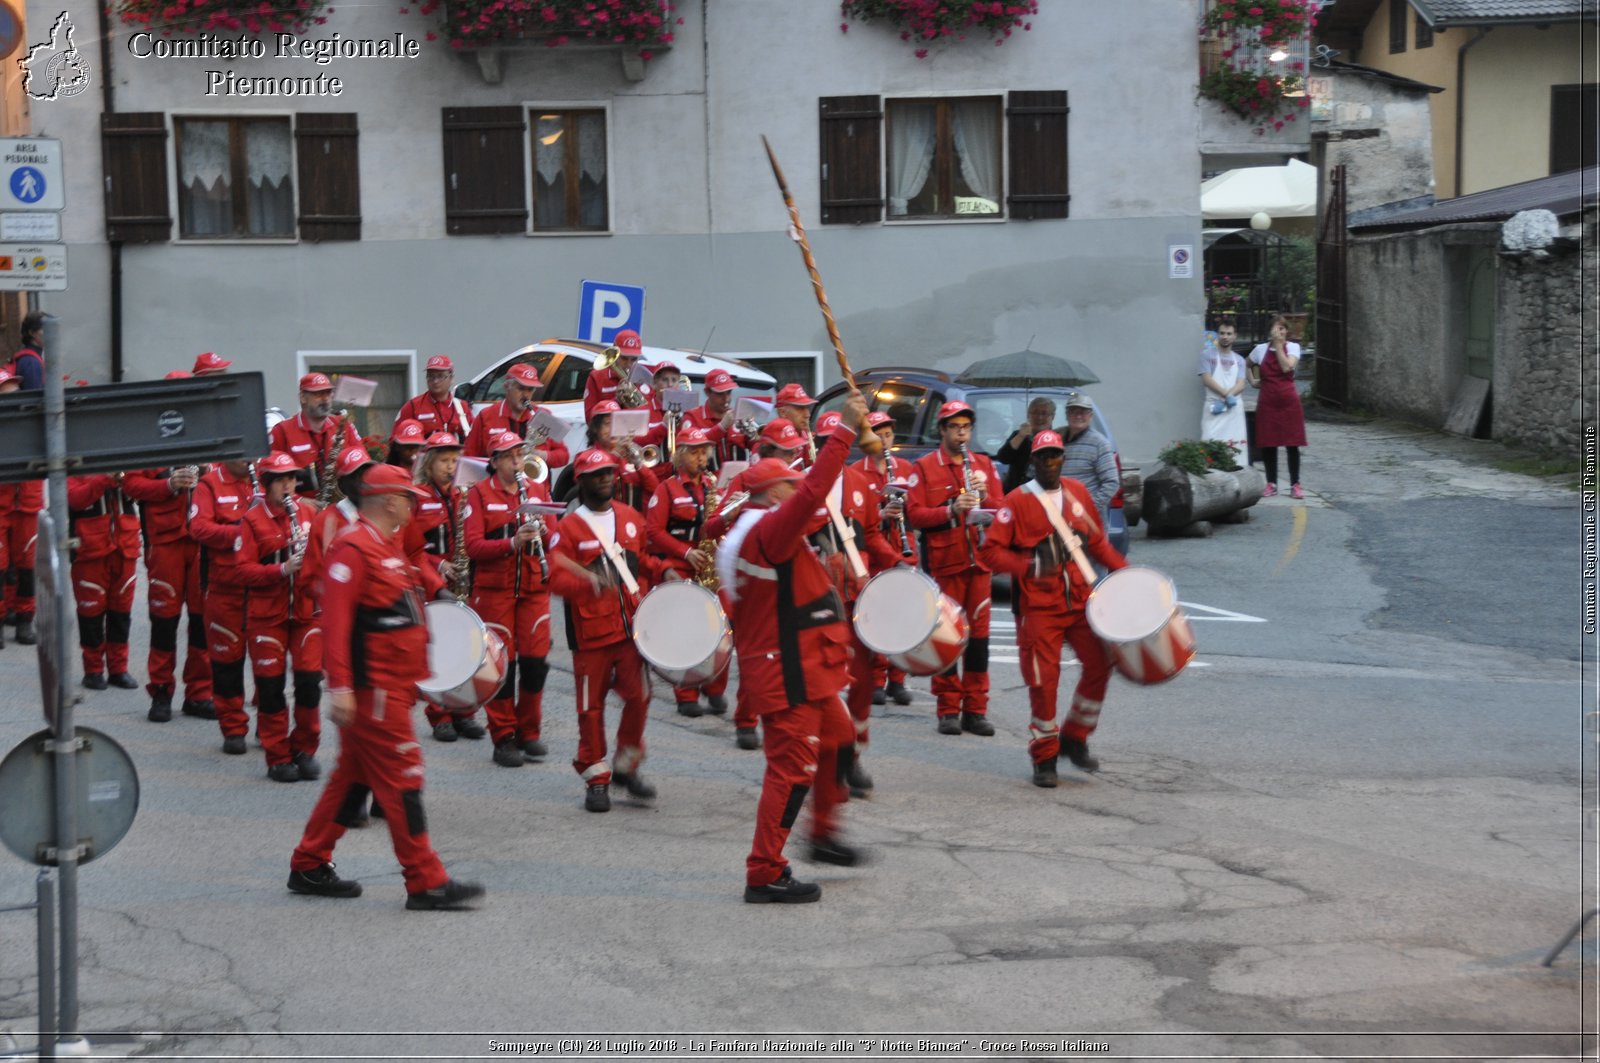
[[[915,568],[880,572],[856,599],[856,637],[912,676],[938,676],[966,650],[966,613]]]

